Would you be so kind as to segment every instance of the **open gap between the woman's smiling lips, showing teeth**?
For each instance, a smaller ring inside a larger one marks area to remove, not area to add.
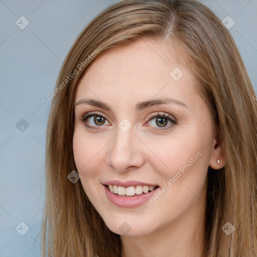
[[[135,185],[130,187],[123,187],[123,186],[117,186],[117,185],[104,185],[108,190],[117,195],[117,196],[123,196],[123,197],[136,197],[140,195],[145,195],[147,193],[150,193],[159,186],[148,186],[148,185]]]

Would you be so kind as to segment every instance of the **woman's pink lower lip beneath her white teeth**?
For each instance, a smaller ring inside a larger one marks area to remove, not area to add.
[[[103,186],[105,190],[105,194],[109,201],[119,207],[132,208],[137,207],[149,200],[154,194],[156,194],[157,189],[144,193],[141,195],[135,195],[131,197],[119,196],[117,194],[112,193],[106,186]]]

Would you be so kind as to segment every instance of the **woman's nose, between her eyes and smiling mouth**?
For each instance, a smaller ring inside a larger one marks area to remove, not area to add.
[[[133,127],[123,132],[119,127],[109,145],[107,165],[117,172],[127,172],[144,165],[145,158],[142,142],[134,135]]]

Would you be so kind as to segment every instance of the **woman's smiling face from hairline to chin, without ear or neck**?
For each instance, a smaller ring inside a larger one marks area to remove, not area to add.
[[[212,120],[189,69],[167,53],[146,40],[109,49],[76,89],[77,171],[117,234],[151,234],[205,208]]]

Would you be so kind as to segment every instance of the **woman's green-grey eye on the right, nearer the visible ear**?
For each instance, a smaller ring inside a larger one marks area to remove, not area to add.
[[[156,129],[156,130],[165,130],[177,123],[175,118],[173,118],[172,116],[166,113],[160,114],[158,112],[150,115],[149,118],[150,118],[150,121],[148,123],[150,123],[151,126],[155,127],[155,125],[157,125],[158,128],[160,127],[164,128],[164,129]]]

